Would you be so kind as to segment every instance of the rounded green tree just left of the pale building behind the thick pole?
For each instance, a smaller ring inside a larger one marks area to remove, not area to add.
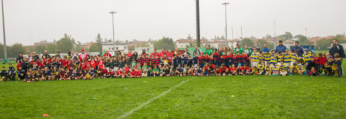
[[[172,38],[164,36],[160,40],[154,41],[154,48],[155,49],[166,48],[166,50],[173,50],[175,46],[174,46]]]

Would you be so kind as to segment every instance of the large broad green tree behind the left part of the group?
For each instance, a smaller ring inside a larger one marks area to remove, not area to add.
[[[75,42],[74,38],[72,38],[71,35],[68,36],[65,33],[64,38],[61,38],[60,40],[56,41],[56,46],[57,46],[56,49],[60,52],[70,52],[72,51],[74,47],[74,42]]]

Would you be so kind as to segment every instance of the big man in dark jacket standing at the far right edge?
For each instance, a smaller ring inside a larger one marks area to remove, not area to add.
[[[330,47],[329,49],[329,53],[331,56],[333,56],[334,59],[334,54],[338,53],[340,55],[340,60],[341,60],[341,75],[344,74],[343,71],[343,58],[346,58],[345,56],[345,51],[344,51],[344,47],[340,44],[338,44],[338,40],[334,39],[333,40],[333,46]]]

